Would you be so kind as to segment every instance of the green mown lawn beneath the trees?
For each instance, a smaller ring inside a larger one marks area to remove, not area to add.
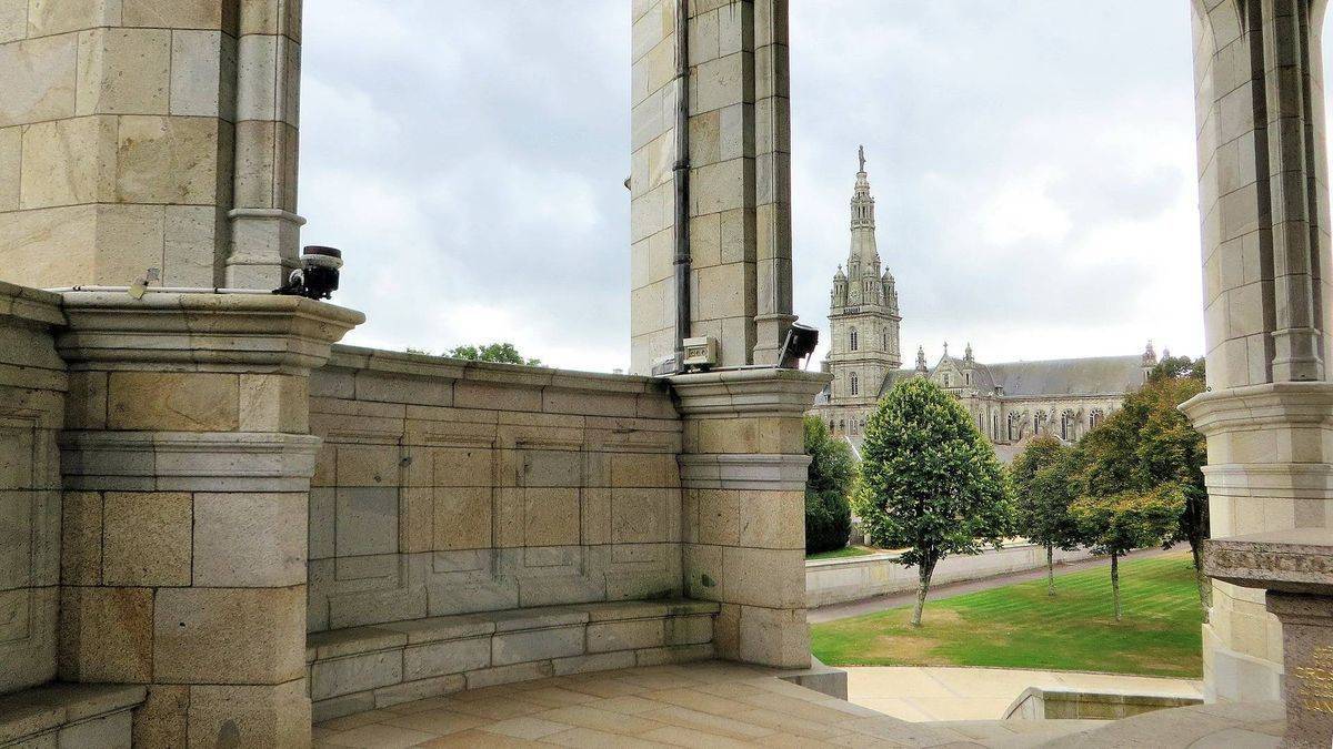
[[[1198,678],[1198,593],[1189,553],[1121,562],[1124,621],[1112,612],[1110,572],[1096,568],[926,601],[812,626],[828,665],[956,665],[1097,670]]]

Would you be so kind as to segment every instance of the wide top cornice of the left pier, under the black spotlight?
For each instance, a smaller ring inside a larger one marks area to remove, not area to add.
[[[73,369],[303,373],[365,321],[360,312],[276,295],[65,292],[56,348]]]

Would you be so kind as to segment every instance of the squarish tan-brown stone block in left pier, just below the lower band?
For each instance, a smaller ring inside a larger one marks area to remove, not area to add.
[[[191,584],[189,494],[107,492],[103,512],[103,582]]]

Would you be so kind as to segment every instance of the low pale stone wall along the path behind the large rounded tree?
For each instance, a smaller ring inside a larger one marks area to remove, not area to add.
[[[1085,560],[1090,556],[1084,549],[1074,552],[1056,549],[1057,562]],[[1037,569],[1045,564],[1046,549],[1044,546],[1028,542],[1006,544],[1000,550],[988,549],[970,557],[946,557],[934,568],[930,584],[981,580],[996,574]],[[898,564],[896,552],[805,562],[805,600],[812,609],[914,590],[916,585],[916,568]]]

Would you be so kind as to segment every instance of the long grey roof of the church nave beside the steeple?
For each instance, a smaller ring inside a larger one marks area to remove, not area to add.
[[[1000,388],[1009,397],[1024,396],[1097,396],[1122,394],[1144,382],[1144,361],[1133,356],[1097,356],[1089,359],[1052,359],[1045,361],[1009,361],[1004,364],[973,363],[944,357],[930,369],[933,374],[944,365],[950,369],[970,369],[970,385],[981,392]],[[916,369],[897,369],[884,378],[880,394],[894,384],[916,376]]]

